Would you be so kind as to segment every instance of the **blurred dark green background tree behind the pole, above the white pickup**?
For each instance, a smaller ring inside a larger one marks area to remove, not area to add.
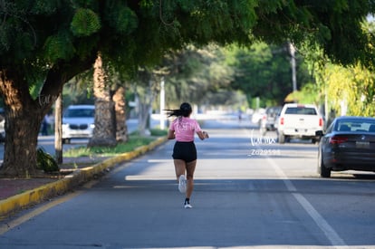
[[[247,96],[249,105],[260,97],[261,105],[281,105],[293,91],[291,55],[287,45],[275,46],[255,43],[250,48],[231,46],[226,50],[226,63],[233,68],[230,86]],[[297,83],[301,89],[308,72],[303,58],[297,57]]]

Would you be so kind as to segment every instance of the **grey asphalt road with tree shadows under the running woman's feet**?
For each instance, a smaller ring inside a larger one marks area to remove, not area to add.
[[[316,173],[317,146],[207,121],[183,208],[173,141],[12,220],[0,248],[375,248],[375,177]]]

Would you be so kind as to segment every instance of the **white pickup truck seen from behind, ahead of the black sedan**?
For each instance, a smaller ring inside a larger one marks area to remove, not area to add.
[[[284,104],[276,126],[279,143],[290,138],[312,139],[315,143],[315,131],[323,129],[323,120],[315,105]]]

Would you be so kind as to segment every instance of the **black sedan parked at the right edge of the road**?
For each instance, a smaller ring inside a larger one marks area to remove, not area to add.
[[[331,171],[375,171],[375,119],[340,117],[323,133],[318,151],[318,172],[331,177]]]

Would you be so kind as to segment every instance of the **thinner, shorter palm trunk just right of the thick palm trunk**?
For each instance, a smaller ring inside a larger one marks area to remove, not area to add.
[[[126,103],[125,103],[125,88],[119,88],[113,94],[112,100],[115,103],[116,113],[116,140],[118,142],[128,141],[128,126],[126,125]]]

